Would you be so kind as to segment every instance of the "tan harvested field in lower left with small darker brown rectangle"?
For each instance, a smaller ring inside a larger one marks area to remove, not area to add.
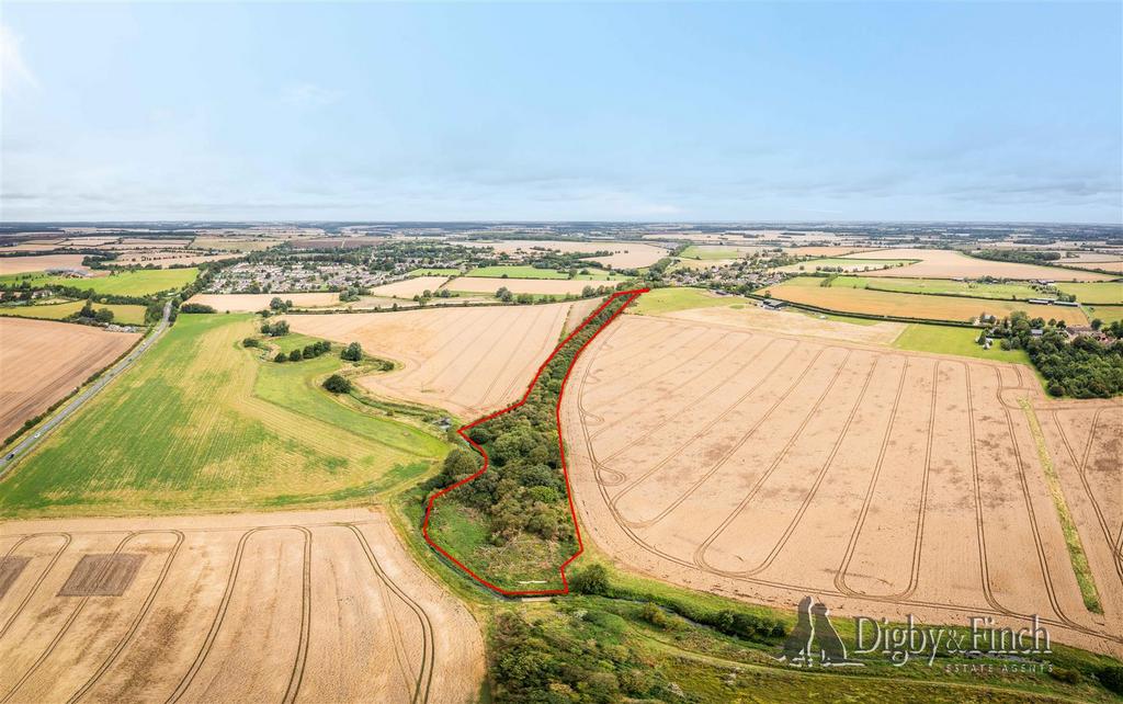
[[[4,701],[468,702],[483,680],[475,621],[382,513],[18,521],[0,555]]]

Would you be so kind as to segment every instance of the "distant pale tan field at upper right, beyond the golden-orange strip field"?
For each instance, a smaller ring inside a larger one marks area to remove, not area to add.
[[[911,276],[919,278],[1001,278],[1044,281],[1105,281],[1105,274],[1077,272],[1056,266],[990,262],[969,257],[950,249],[870,249],[847,255],[860,259],[920,259],[916,264],[868,272],[869,276]]]

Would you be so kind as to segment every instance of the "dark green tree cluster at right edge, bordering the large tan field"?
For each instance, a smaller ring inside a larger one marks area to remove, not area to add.
[[[987,332],[1004,349],[1024,349],[1054,396],[1106,399],[1123,393],[1123,323],[1119,321],[1104,329],[1106,342],[1087,335],[1069,340],[1063,322],[1031,320],[1022,311]]]

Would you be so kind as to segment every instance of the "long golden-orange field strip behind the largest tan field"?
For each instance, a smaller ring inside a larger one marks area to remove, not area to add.
[[[902,271],[902,269],[895,269]],[[864,275],[869,275],[867,272]],[[847,313],[871,316],[902,316],[926,320],[956,320],[968,322],[980,314],[1005,318],[1014,311],[1025,311],[1030,318],[1056,318],[1074,326],[1088,324],[1088,317],[1079,308],[1063,305],[1034,305],[1023,301],[969,299],[922,293],[896,293],[869,289],[839,289],[807,285],[806,280],[793,278],[778,286],[769,286],[772,295],[785,301],[814,305]]]

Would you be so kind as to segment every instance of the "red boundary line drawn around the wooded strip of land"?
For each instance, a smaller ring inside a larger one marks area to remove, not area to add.
[[[569,566],[569,563],[572,563],[575,559],[577,559],[577,556],[579,556],[582,552],[585,551],[585,543],[581,539],[581,527],[577,524],[577,510],[576,510],[576,508],[574,508],[574,504],[573,504],[573,491],[572,491],[572,488],[569,486],[569,468],[566,466],[566,461],[565,461],[565,441],[562,439],[562,396],[565,394],[565,385],[569,381],[569,373],[573,372],[573,365],[575,365],[577,363],[577,358],[581,356],[581,353],[584,351],[585,347],[587,347],[588,344],[592,342],[593,339],[596,338],[596,336],[601,333],[601,330],[603,330],[604,328],[609,327],[609,323],[612,322],[615,319],[615,317],[621,313],[621,311],[623,311],[626,308],[628,308],[629,303],[631,303],[632,301],[634,301],[636,299],[638,299],[641,293],[647,293],[648,291],[649,291],[649,289],[636,289],[636,290],[632,290],[632,291],[620,291],[620,292],[617,292],[617,293],[613,293],[612,295],[610,295],[604,301],[604,303],[601,304],[600,308],[597,308],[595,311],[593,311],[592,313],[590,313],[590,316],[587,318],[585,318],[585,320],[579,326],[577,326],[577,328],[573,332],[570,332],[567,338],[565,338],[564,340],[562,340],[558,344],[558,346],[554,348],[554,351],[550,353],[550,356],[546,358],[546,362],[542,363],[542,366],[538,367],[538,373],[535,374],[535,378],[531,380],[530,385],[527,386],[527,392],[524,394],[522,394],[522,399],[520,399],[518,402],[515,402],[515,403],[506,406],[505,409],[503,409],[501,411],[495,411],[494,413],[492,413],[490,415],[485,415],[485,417],[483,417],[483,418],[481,418],[478,420],[475,420],[475,421],[468,423],[467,426],[463,426],[463,427],[460,427],[456,431],[456,432],[459,433],[459,436],[462,438],[464,438],[468,442],[468,445],[471,445],[473,448],[475,448],[475,450],[477,452],[480,452],[480,455],[484,458],[484,466],[481,467],[480,470],[476,472],[475,474],[460,479],[459,482],[457,482],[456,484],[453,484],[451,486],[446,486],[445,488],[440,490],[439,492],[437,492],[436,494],[433,494],[432,496],[429,497],[429,503],[428,503],[428,505],[426,505],[426,510],[424,510],[424,522],[421,524],[421,534],[424,536],[426,542],[428,542],[435,550],[437,550],[438,552],[440,552],[441,555],[444,555],[445,557],[447,557],[457,567],[459,567],[460,569],[463,569],[464,572],[466,572],[469,576],[472,576],[473,579],[475,579],[480,584],[484,585],[485,587],[487,587],[487,588],[490,588],[490,589],[492,589],[494,592],[497,592],[500,594],[503,594],[504,596],[547,596],[547,595],[550,595],[550,594],[568,594],[569,593],[569,583],[566,580],[566,577],[565,577],[565,568]],[[569,559],[567,559],[566,561],[562,563],[562,566],[558,568],[558,573],[560,573],[560,575],[562,575],[562,588],[560,589],[536,589],[536,591],[523,591],[523,592],[513,592],[513,591],[504,589],[503,587],[496,586],[496,585],[492,584],[491,582],[487,582],[486,579],[484,579],[483,577],[481,577],[480,575],[477,575],[476,573],[472,572],[472,569],[469,569],[464,563],[462,563],[460,560],[456,559],[455,557],[453,557],[451,555],[449,555],[448,551],[446,551],[444,548],[441,548],[439,545],[437,545],[433,541],[433,539],[429,537],[429,514],[432,512],[432,506],[433,506],[433,504],[436,503],[436,501],[438,499],[440,499],[441,496],[444,496],[448,492],[453,491],[454,488],[456,488],[458,486],[463,486],[464,484],[467,484],[472,479],[474,479],[474,478],[478,477],[480,475],[482,475],[484,472],[487,472],[487,467],[490,465],[490,460],[487,458],[487,452],[484,451],[484,448],[481,447],[475,440],[473,440],[472,438],[469,438],[468,435],[465,431],[466,430],[471,430],[472,428],[475,428],[480,423],[486,422],[486,421],[489,421],[489,420],[491,420],[493,418],[496,418],[496,417],[502,415],[504,413],[510,413],[514,409],[517,409],[520,405],[522,405],[523,403],[526,403],[527,399],[530,396],[530,392],[535,388],[535,384],[538,383],[538,377],[540,377],[542,375],[542,372],[546,369],[546,366],[554,359],[554,357],[559,351],[562,351],[562,348],[565,347],[569,342],[569,340],[572,340],[578,332],[581,332],[585,328],[585,326],[587,326],[588,322],[593,318],[596,318],[597,316],[600,316],[601,311],[603,311],[605,308],[608,308],[614,300],[617,300],[619,298],[623,298],[623,296],[628,296],[628,301],[626,301],[623,305],[621,305],[619,309],[617,309],[617,312],[612,313],[612,316],[608,320],[604,321],[604,324],[602,324],[600,327],[600,329],[597,329],[596,332],[594,332],[592,335],[592,337],[590,337],[587,340],[585,340],[585,344],[582,345],[577,349],[576,353],[574,353],[573,360],[569,363],[569,368],[567,368],[565,371],[565,377],[562,380],[562,387],[558,390],[558,402],[557,402],[557,405],[554,409],[554,414],[555,414],[555,418],[557,419],[557,424],[558,424],[558,450],[560,451],[560,457],[562,457],[562,474],[565,476],[566,499],[569,500],[569,515],[573,518],[573,528],[574,528],[574,531],[576,532],[576,536],[577,536],[577,551],[574,552],[573,555],[570,555]]]

